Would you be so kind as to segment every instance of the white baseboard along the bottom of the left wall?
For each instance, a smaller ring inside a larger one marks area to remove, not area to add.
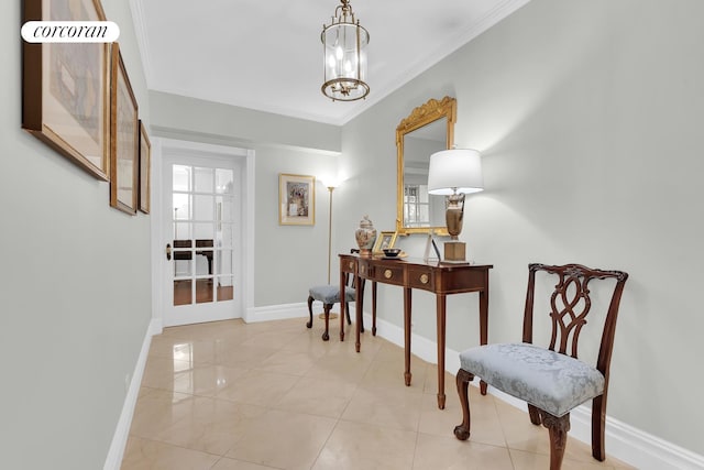
[[[134,372],[132,373],[132,380],[130,381],[130,387],[128,389],[124,403],[122,404],[122,413],[120,413],[120,419],[116,427],[114,435],[112,436],[112,442],[108,450],[108,457],[106,463],[102,467],[103,470],[120,470],[122,466],[122,457],[124,456],[124,448],[128,445],[128,436],[130,434],[130,426],[132,425],[132,416],[134,415],[134,407],[136,406],[136,398],[140,394],[140,386],[142,384],[142,376],[144,375],[144,368],[146,365],[146,358],[150,353],[150,346],[152,345],[152,336],[162,332],[161,319],[152,319],[146,334],[144,335],[144,341],[142,342],[142,349],[140,356],[134,364]]]

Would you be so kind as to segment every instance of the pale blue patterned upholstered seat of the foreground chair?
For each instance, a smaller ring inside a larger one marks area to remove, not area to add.
[[[460,353],[462,369],[560,417],[604,393],[604,375],[579,359],[529,343],[499,343]]]

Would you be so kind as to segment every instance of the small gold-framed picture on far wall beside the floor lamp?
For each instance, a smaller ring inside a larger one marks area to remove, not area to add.
[[[316,225],[316,178],[306,175],[278,175],[278,223]]]

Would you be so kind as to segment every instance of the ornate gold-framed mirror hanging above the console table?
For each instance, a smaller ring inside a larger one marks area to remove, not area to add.
[[[430,99],[396,128],[398,234],[448,234],[446,197],[428,194],[428,165],[435,152],[452,147],[457,109],[454,98]]]

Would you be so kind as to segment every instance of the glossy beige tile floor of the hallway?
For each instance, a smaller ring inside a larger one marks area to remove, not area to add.
[[[547,469],[548,431],[471,390],[472,437],[454,438],[454,378],[437,407],[437,369],[367,331],[320,339],[322,321],[240,320],[167,328],[152,339],[122,461],[138,469]],[[349,338],[349,337],[348,337]],[[608,442],[607,442],[608,445]],[[627,469],[570,439],[563,468]]]

